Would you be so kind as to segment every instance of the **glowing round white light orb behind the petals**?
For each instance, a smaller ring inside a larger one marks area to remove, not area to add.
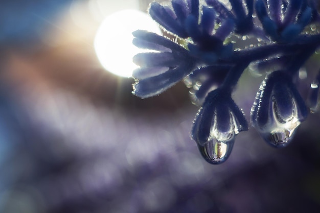
[[[137,68],[132,57],[143,52],[132,44],[132,32],[139,29],[161,34],[157,23],[139,10],[112,13],[101,23],[95,37],[95,50],[100,63],[110,73],[132,76],[132,71]]]

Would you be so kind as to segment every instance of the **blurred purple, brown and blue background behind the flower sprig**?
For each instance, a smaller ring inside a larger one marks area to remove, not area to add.
[[[182,83],[141,100],[99,63],[100,23],[133,4],[117,2],[1,2],[0,212],[319,212],[320,114],[285,149],[250,128],[225,163],[205,162]],[[319,66],[306,64],[304,97]],[[247,118],[261,80],[245,72],[234,94]]]

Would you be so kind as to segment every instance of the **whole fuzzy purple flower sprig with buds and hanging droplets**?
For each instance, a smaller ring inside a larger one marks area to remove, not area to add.
[[[201,105],[191,136],[205,160],[224,162],[235,136],[248,129],[231,96],[249,64],[266,75],[250,113],[252,126],[273,147],[290,142],[308,114],[295,77],[320,47],[320,34],[306,33],[320,24],[315,0],[172,0],[152,3],[149,13],[178,39],[133,33],[136,46],[153,51],[133,58],[140,66],[133,72],[133,93],[147,98],[187,82],[193,102]],[[246,36],[261,43],[238,49],[230,42]],[[319,76],[311,84],[311,111],[318,108]]]

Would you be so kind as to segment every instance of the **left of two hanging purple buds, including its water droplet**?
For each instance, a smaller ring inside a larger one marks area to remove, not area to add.
[[[204,159],[217,164],[228,158],[236,135],[247,129],[245,117],[230,93],[216,89],[208,94],[200,107],[191,136]]]

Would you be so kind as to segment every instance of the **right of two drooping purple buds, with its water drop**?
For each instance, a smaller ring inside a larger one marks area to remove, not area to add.
[[[284,147],[307,114],[292,77],[283,71],[276,71],[262,82],[251,109],[251,120],[267,143]]]

